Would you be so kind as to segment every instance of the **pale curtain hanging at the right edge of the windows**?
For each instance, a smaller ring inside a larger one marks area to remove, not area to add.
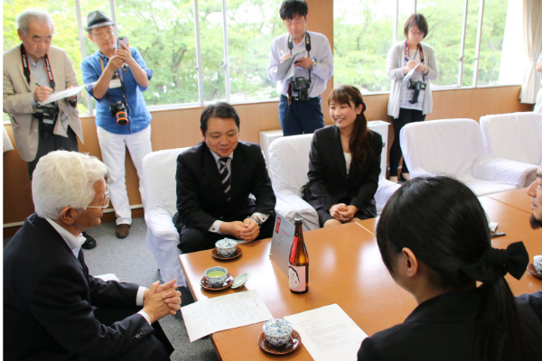
[[[527,66],[521,83],[521,103],[534,104],[540,88],[537,58],[542,51],[542,5],[540,0],[523,0],[523,34]]]

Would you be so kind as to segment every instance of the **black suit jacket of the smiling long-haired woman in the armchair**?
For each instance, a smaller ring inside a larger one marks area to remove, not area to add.
[[[376,155],[375,159],[363,164],[361,169],[352,160],[347,176],[339,128],[332,125],[314,132],[307,197],[313,208],[329,211],[329,208],[340,203],[341,199],[351,199],[350,205],[356,206],[361,213],[369,218],[376,217],[374,198],[380,174],[382,137],[370,131],[368,136],[370,146]]]

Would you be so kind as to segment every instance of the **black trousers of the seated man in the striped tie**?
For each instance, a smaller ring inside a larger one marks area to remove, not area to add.
[[[252,216],[252,214],[238,216],[225,221],[231,222],[234,220],[243,221],[245,218]],[[205,249],[212,249],[215,247],[215,243],[223,238],[232,238],[233,236],[220,235],[212,232],[201,232],[200,229],[182,226],[181,222],[176,219],[178,214],[173,217],[173,223],[177,227],[179,235],[181,235],[181,243],[177,245],[183,254],[190,254],[192,252],[203,251]],[[273,228],[275,227],[276,213],[272,212],[269,218],[262,224],[260,233],[256,239],[270,238],[273,236]],[[182,227],[180,227],[182,226]],[[181,229],[179,229],[181,228]]]

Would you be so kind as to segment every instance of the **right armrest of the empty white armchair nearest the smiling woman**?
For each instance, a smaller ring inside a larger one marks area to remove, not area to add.
[[[481,180],[508,182],[524,188],[534,180],[536,171],[536,165],[482,155],[474,162],[472,175]]]

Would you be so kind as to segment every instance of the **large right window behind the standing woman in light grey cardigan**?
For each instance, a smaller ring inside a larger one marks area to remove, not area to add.
[[[416,11],[429,26],[424,42],[435,49],[435,88],[519,83],[506,74],[514,67],[500,65],[506,32],[520,27],[507,22],[508,6],[509,0],[334,0],[335,86],[388,91],[388,50],[405,40],[406,19]]]

